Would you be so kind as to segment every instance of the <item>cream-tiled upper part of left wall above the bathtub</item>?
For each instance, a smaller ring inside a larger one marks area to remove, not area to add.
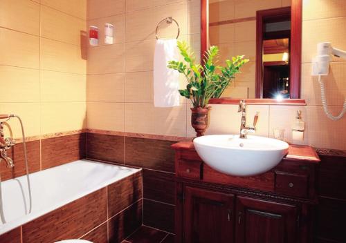
[[[86,0],[1,1],[0,113],[26,136],[86,126],[85,30]]]

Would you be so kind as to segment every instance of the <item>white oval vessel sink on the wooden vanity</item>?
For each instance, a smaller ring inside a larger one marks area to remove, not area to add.
[[[216,171],[227,175],[251,176],[275,167],[289,151],[289,144],[268,137],[208,135],[194,139],[194,148]]]

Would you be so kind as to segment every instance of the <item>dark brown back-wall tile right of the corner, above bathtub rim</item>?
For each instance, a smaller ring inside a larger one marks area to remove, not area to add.
[[[88,133],[86,141],[88,158],[124,164],[124,137]]]

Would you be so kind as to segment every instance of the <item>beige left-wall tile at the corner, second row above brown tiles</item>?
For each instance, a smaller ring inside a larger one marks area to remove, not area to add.
[[[42,102],[86,102],[86,75],[41,71]]]

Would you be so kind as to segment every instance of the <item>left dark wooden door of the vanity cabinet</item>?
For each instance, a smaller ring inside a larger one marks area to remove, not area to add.
[[[186,187],[184,242],[233,243],[233,208],[234,195]]]

